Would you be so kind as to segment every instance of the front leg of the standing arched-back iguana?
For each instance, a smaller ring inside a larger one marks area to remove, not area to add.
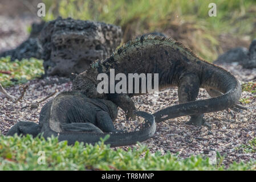
[[[114,104],[123,109],[127,119],[135,119],[135,114],[133,114],[133,110],[136,110],[136,107],[128,94],[108,94],[108,100],[111,100]]]

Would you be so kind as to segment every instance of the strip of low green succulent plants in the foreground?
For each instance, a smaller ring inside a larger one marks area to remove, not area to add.
[[[107,139],[107,138],[105,138]],[[105,140],[104,139],[104,140]],[[104,142],[103,140],[103,142]],[[95,146],[76,142],[68,146],[67,142],[58,142],[57,138],[3,137],[0,136],[0,170],[224,170],[220,163],[209,164],[209,158],[192,156],[178,159],[170,153],[151,154],[146,146],[111,150],[108,145],[99,142]],[[45,164],[42,153],[45,154]],[[143,158],[141,156],[143,155]],[[220,159],[218,161],[221,161]],[[255,169],[255,162],[233,163],[228,169]]]

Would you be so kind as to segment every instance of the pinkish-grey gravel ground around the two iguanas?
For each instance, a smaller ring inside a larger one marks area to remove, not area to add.
[[[226,69],[232,72],[241,81],[249,81],[256,77],[256,69],[246,70],[237,65],[224,65]],[[65,82],[63,78],[47,77],[42,80],[35,79],[27,82],[29,88],[25,97],[20,102],[14,104],[7,100],[0,93],[0,131],[2,134],[10,129],[18,121],[34,121],[38,122],[40,109],[47,101],[42,101],[52,93],[61,92],[63,90],[71,90],[71,82]],[[18,98],[19,86],[13,86],[6,89],[12,96]],[[54,96],[56,96],[56,94]],[[235,113],[235,119],[227,111],[218,111],[217,113],[205,114],[206,121],[212,125],[209,130],[206,127],[195,127],[185,125],[189,117],[180,117],[170,119],[166,122],[157,123],[156,134],[149,140],[142,142],[149,146],[151,152],[160,151],[165,154],[167,151],[176,154],[181,158],[187,158],[191,155],[205,154],[209,151],[218,151],[221,155],[225,155],[225,164],[233,161],[249,161],[251,158],[256,159],[256,154],[243,154],[242,151],[235,150],[241,144],[246,144],[249,140],[256,137],[256,112],[255,112],[255,95],[250,92],[243,92],[242,98],[250,98],[251,107],[243,113]],[[209,98],[204,89],[200,89],[198,100]],[[31,103],[40,102],[38,107],[31,107]],[[159,96],[146,94],[144,96],[133,97],[136,107],[140,110],[154,113],[156,110],[162,109],[169,105],[178,104],[177,88],[162,90]],[[137,126],[141,126],[139,121],[126,121],[124,113],[119,109],[119,115],[116,119],[115,126],[117,129],[135,130]],[[131,147],[131,146],[128,146]],[[121,147],[127,150],[128,147]]]

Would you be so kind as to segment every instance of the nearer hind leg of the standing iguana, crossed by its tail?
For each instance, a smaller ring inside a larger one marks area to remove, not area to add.
[[[195,101],[200,88],[200,80],[194,73],[186,73],[178,82],[178,101],[180,104]],[[190,120],[186,124],[201,126],[204,124],[204,114],[190,115]]]

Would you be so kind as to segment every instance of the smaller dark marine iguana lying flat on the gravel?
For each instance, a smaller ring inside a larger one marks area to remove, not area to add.
[[[136,115],[145,118],[146,122],[140,131],[116,132],[113,120],[117,117],[117,107],[113,102],[102,99],[87,98],[79,92],[62,92],[42,107],[39,125],[34,122],[18,122],[7,135],[31,134],[36,137],[58,136],[59,141],[67,140],[68,144],[76,141],[96,143],[107,134],[110,137],[105,144],[111,147],[127,146],[147,140],[155,134],[156,123],[151,114],[137,111]]]

